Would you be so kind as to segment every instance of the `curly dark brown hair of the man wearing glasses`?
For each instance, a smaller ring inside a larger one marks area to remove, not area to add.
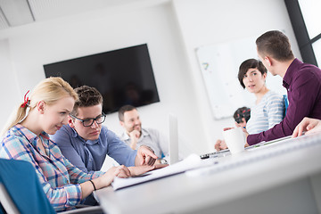
[[[75,92],[78,94],[78,101],[76,101],[72,115],[77,116],[79,107],[89,107],[97,104],[103,105],[103,95],[95,88],[91,86],[79,86],[76,87]]]

